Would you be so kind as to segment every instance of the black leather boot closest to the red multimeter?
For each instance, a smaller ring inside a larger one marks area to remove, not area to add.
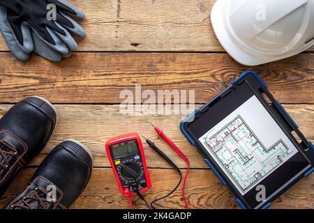
[[[89,182],[93,156],[73,139],[63,141],[40,164],[24,190],[7,209],[69,208]]]

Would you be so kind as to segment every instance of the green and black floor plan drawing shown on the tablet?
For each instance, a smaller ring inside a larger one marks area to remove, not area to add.
[[[282,139],[265,148],[241,116],[214,135],[205,136],[205,145],[242,192],[246,192],[290,158]],[[292,155],[292,154],[291,154]]]

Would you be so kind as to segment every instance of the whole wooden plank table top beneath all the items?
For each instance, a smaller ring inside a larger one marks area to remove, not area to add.
[[[94,155],[94,171],[87,189],[71,208],[128,208],[121,197],[105,153],[105,141],[127,132],[138,132],[179,164],[183,160],[157,137],[155,123],[186,153],[191,162],[186,197],[190,208],[238,208],[234,197],[202,161],[180,133],[179,115],[125,116],[119,112],[121,91],[194,90],[200,107],[225,89],[241,71],[253,68],[314,141],[314,47],[289,59],[246,67],[235,62],[220,46],[209,15],[214,0],[71,0],[84,11],[81,22],[87,38],[77,39],[79,49],[58,63],[33,54],[17,61],[0,39],[0,116],[16,102],[40,95],[57,107],[59,122],[46,148],[13,180],[0,199],[4,206],[22,190],[36,167],[64,139],[77,139]],[[147,200],[166,194],[178,176],[145,146],[153,187]],[[184,170],[185,171],[185,170]],[[146,208],[133,197],[135,208]],[[160,201],[158,208],[184,208],[181,191]],[[271,208],[314,208],[314,175],[276,199]]]

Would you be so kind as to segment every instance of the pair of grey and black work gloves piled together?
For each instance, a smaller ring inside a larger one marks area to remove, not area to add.
[[[19,0],[12,0],[10,2],[14,1]],[[50,2],[50,0],[45,1],[47,3]],[[53,1],[58,2],[58,4],[60,3],[61,6],[68,7],[70,11],[73,10],[73,14],[75,14],[76,17],[84,18],[84,14],[77,10],[74,6],[70,5],[70,3],[68,3],[66,0],[53,0]],[[30,3],[36,2],[43,3],[44,1],[36,0]],[[5,3],[5,1],[0,2],[0,5],[1,3]],[[27,3],[27,1],[24,1],[24,3]],[[8,4],[9,4],[8,6],[10,6],[10,3]],[[54,24],[54,26],[57,27],[59,30],[63,31],[63,33],[59,33],[58,31],[51,29],[51,27],[49,26],[45,26],[44,28],[45,31],[39,30],[40,33],[38,33],[37,30],[34,29],[34,25],[31,26],[29,25],[29,23],[24,22],[21,19],[15,20],[14,15],[16,15],[16,13],[13,9],[15,8],[14,7],[6,8],[4,6],[0,6],[0,31],[13,54],[17,57],[17,59],[20,59],[22,61],[29,59],[29,53],[32,51],[36,52],[40,56],[43,56],[50,61],[59,61],[61,60],[62,57],[70,56],[71,51],[77,50],[77,43],[74,40],[73,36],[70,35],[69,31],[72,33],[76,33],[80,37],[86,36],[84,29],[82,29],[82,27],[79,24],[77,24],[75,20],[73,20],[69,15],[67,15],[67,13],[64,13],[63,10],[58,10],[59,13],[58,15],[62,15],[63,20],[66,20],[68,22],[68,26],[64,24],[61,25],[58,22],[58,19],[61,20],[60,17],[57,17],[56,21],[48,22],[48,24],[51,23]],[[27,15],[27,13],[31,13],[25,12],[23,10],[21,11],[21,8],[17,9],[18,9],[17,13],[20,13],[19,15]],[[10,12],[10,15],[8,15],[8,12]],[[40,15],[44,15],[43,13],[47,12],[48,10],[42,12]],[[29,16],[32,15],[33,14]],[[41,21],[46,24],[48,20],[47,21],[45,20],[47,19],[43,18],[42,16]],[[39,24],[40,23],[38,23],[38,25]],[[18,30],[17,27],[19,26],[20,31],[17,31]],[[17,31],[17,33],[19,34],[20,36],[19,38],[15,36],[15,31]],[[40,36],[40,34],[43,35],[43,33],[47,34],[48,36]],[[47,41],[47,38],[49,39],[49,36],[52,38],[51,41]]]

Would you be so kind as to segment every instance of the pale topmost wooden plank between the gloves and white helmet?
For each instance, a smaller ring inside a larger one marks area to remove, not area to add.
[[[69,0],[82,10],[79,51],[223,52],[209,15],[215,0]],[[313,51],[314,47],[311,48]],[[0,51],[8,47],[0,38]]]

